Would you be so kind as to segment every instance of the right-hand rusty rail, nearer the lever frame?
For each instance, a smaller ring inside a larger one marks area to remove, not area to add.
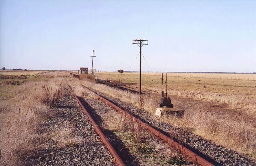
[[[87,88],[86,86],[82,85],[81,86]],[[89,89],[89,88],[87,88]],[[100,96],[99,94],[97,94],[96,92],[94,92],[93,90],[89,89],[91,92],[93,92],[94,94],[96,94],[97,97],[99,97],[100,100],[104,101],[106,104],[110,105],[112,108],[116,109],[117,111],[120,112],[124,112],[127,113],[127,111],[121,109],[120,107],[118,107],[117,105],[115,105],[114,103],[112,103],[111,101],[105,99],[104,97]],[[130,114],[131,115],[131,114]],[[202,158],[201,156],[195,154],[193,151],[186,149],[185,146],[180,145],[180,143],[176,142],[174,139],[171,139],[169,137],[167,137],[166,135],[164,135],[163,133],[160,133],[160,131],[157,131],[156,129],[154,129],[153,127],[145,124],[143,121],[139,120],[138,118],[136,118],[135,116],[131,115],[131,117],[137,121],[140,122],[142,126],[144,126],[147,130],[149,130],[151,133],[155,134],[156,136],[160,137],[163,141],[167,142],[168,145],[174,145],[176,149],[181,149],[182,152],[186,155],[188,155],[191,158],[192,162],[197,162],[199,164],[201,164],[202,166],[215,166],[214,164],[212,164],[211,162],[207,161],[206,159]],[[182,146],[182,147],[181,147]]]

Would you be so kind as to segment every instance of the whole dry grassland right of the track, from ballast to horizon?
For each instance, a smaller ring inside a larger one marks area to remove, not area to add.
[[[234,80],[237,75],[247,80]],[[139,89],[139,73],[125,72],[120,75],[117,72],[97,72],[97,76],[103,80],[119,82],[120,79],[122,82],[137,83],[129,87]],[[178,127],[188,127],[201,137],[255,159],[255,79],[256,74],[189,73],[184,76],[183,73],[167,73],[168,96],[171,97],[174,107],[184,109],[185,113],[183,118],[163,117],[163,121]],[[142,90],[159,92],[145,96],[144,109],[154,114],[161,97],[161,73],[142,73],[141,84]],[[165,90],[165,84],[163,87]],[[96,86],[93,85],[93,88]],[[104,92],[124,101],[131,100],[126,93],[110,89],[105,89]],[[131,102],[138,104],[140,100],[135,97]]]

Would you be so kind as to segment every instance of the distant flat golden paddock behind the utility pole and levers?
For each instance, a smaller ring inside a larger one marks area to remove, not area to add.
[[[191,77],[189,77],[189,75]],[[98,72],[98,79],[139,83],[139,73]],[[185,77],[182,77],[182,76]],[[203,77],[203,78],[197,78]],[[206,78],[204,78],[206,77]],[[215,79],[213,78],[215,77]],[[195,100],[227,104],[230,109],[239,109],[248,114],[256,114],[256,81],[216,79],[216,77],[246,77],[256,80],[256,74],[197,74],[167,73],[168,94]],[[142,89],[161,91],[161,73],[142,73]],[[132,85],[131,87],[139,87]]]

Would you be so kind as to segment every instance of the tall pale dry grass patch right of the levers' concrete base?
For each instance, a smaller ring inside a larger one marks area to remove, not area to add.
[[[183,118],[168,116],[161,120],[177,127],[189,127],[196,135],[255,159],[256,130],[244,121],[198,110],[186,110]]]

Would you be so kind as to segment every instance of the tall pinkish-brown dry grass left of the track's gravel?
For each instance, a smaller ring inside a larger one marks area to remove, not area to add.
[[[27,82],[13,87],[9,93],[12,98],[0,101],[0,165],[25,165],[26,159],[40,146],[41,121],[52,115],[48,103],[58,100],[63,78],[48,81]],[[42,86],[47,85],[49,93],[44,93]]]

